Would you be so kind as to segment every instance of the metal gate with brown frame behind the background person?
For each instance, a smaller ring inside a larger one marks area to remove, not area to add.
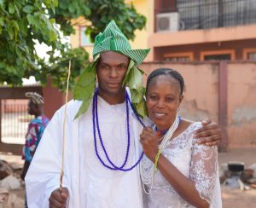
[[[43,95],[41,86],[0,87],[0,152],[20,155],[27,125],[32,116],[26,112],[26,92]]]

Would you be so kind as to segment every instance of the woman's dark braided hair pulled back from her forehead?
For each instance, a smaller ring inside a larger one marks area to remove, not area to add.
[[[148,94],[148,85],[150,84],[152,79],[157,76],[160,76],[160,75],[166,75],[166,76],[175,78],[180,86],[180,94],[181,95],[183,94],[183,89],[184,89],[183,76],[176,70],[173,70],[172,68],[157,68],[148,75],[147,86],[146,86],[146,95]]]

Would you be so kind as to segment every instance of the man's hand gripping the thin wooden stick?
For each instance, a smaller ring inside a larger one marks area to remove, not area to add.
[[[55,189],[49,197],[49,208],[66,208],[67,207],[68,189]]]

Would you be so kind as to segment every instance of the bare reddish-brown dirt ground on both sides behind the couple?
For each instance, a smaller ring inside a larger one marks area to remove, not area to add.
[[[23,161],[20,156],[0,153],[0,159],[8,161],[15,167],[21,167]],[[227,153],[218,153],[218,164],[222,165],[230,161],[244,162],[246,167],[256,163],[256,147],[230,149]],[[20,198],[24,196],[24,189],[15,190],[13,193]],[[242,191],[238,188],[222,186],[222,201],[224,208],[236,207],[256,207],[256,189]]]

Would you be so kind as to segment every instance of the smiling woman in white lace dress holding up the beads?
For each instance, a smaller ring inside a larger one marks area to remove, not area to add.
[[[144,128],[140,140],[148,207],[222,207],[217,147],[198,144],[193,132],[201,123],[177,115],[183,87],[183,77],[172,69],[148,76],[147,110],[155,125]]]

